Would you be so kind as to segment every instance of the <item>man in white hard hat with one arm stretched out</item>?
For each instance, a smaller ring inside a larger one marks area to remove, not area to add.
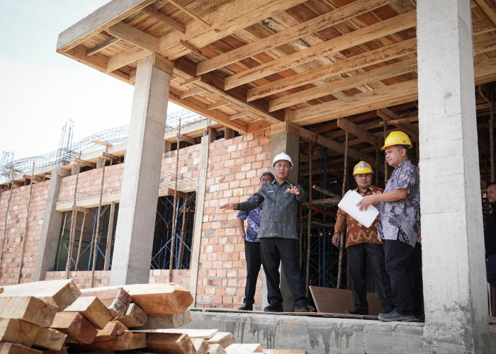
[[[298,265],[298,233],[296,221],[298,202],[307,200],[308,195],[298,184],[288,181],[293,161],[288,154],[274,157],[272,164],[276,179],[261,186],[250,200],[222,205],[222,210],[244,210],[249,212],[264,203],[259,230],[261,262],[267,279],[266,312],[283,312],[283,297],[279,289],[282,262],[286,280],[293,292],[298,312],[309,312],[305,295],[305,283]]]

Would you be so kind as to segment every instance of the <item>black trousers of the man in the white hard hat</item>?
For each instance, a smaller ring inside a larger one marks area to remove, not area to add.
[[[261,263],[264,265],[267,280],[267,301],[282,304],[283,295],[279,289],[281,275],[279,264],[282,262],[288,286],[293,292],[293,301],[298,307],[307,305],[305,283],[298,265],[298,240],[268,237],[260,239]]]

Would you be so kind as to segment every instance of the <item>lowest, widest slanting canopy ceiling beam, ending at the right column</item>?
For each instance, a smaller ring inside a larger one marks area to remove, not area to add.
[[[385,86],[381,89],[357,93],[341,100],[293,110],[293,122],[300,125],[315,124],[379,108],[415,101],[418,97],[417,80]]]

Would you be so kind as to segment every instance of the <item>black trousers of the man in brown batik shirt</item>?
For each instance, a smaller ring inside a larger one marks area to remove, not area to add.
[[[385,271],[384,247],[382,244],[356,244],[346,249],[349,259],[349,278],[354,310],[368,312],[367,302],[367,261],[373,276],[377,295],[386,313],[393,309],[391,285]]]

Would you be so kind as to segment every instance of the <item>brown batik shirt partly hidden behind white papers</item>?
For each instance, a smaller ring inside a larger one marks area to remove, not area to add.
[[[374,187],[371,185],[368,187],[365,193],[363,193],[359,188],[355,189],[356,193],[361,196],[372,195],[377,193],[383,193],[382,188]],[[381,244],[377,236],[377,219],[374,220],[371,227],[364,227],[362,224],[356,221],[353,217],[350,217],[346,212],[339,208],[337,210],[336,224],[334,225],[334,235],[342,234],[344,228],[346,227],[346,247],[354,246],[356,244]]]

